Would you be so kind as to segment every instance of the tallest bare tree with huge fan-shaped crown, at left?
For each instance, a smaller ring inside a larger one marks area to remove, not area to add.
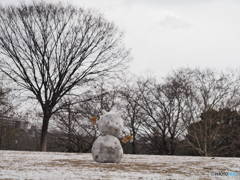
[[[0,69],[40,103],[41,151],[58,102],[129,60],[121,39],[114,24],[93,10],[45,2],[0,7]]]

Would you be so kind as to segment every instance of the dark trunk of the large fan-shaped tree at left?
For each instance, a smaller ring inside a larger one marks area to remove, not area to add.
[[[48,134],[48,124],[51,116],[44,115],[43,124],[42,124],[42,132],[40,139],[40,151],[47,151],[47,134]]]

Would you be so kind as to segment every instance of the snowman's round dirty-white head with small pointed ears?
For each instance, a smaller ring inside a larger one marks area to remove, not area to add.
[[[119,112],[106,112],[102,111],[103,115],[100,116],[98,122],[98,129],[101,135],[113,135],[120,137],[123,130],[123,119]]]

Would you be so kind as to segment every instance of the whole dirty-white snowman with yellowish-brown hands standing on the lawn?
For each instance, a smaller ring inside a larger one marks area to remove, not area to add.
[[[100,163],[119,163],[123,156],[123,149],[118,138],[124,128],[123,119],[118,112],[102,111],[102,116],[97,121],[97,117],[92,117],[93,125],[97,125],[100,136],[93,143],[93,160]],[[132,137],[127,135],[123,142],[127,143]]]

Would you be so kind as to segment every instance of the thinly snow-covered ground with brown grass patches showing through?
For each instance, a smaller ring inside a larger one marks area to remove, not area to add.
[[[240,158],[124,155],[119,164],[101,164],[91,154],[0,151],[0,179],[229,180],[240,179]]]

